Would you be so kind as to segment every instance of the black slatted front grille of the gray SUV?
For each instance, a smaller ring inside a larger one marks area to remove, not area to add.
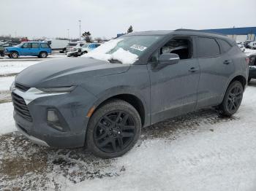
[[[29,109],[26,106],[26,102],[23,100],[22,97],[20,97],[20,95],[12,93],[12,104],[17,114],[19,114],[21,117],[23,117],[26,120],[32,121],[32,117],[30,115]]]

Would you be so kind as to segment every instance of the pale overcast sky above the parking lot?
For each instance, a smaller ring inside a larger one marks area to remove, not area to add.
[[[255,0],[1,0],[0,35],[112,37],[135,31],[256,26]]]

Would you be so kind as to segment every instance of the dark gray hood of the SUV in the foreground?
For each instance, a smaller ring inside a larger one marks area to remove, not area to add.
[[[60,87],[80,85],[86,78],[123,73],[127,64],[108,63],[94,58],[64,58],[29,66],[18,74],[15,82],[27,87]]]

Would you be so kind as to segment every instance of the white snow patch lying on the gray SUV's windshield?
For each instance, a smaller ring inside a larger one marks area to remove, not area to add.
[[[122,40],[123,39],[112,39],[109,42],[106,42],[105,44],[102,44],[101,46],[92,50],[91,52],[82,55],[82,57],[94,58],[108,62],[113,59],[121,61],[121,63],[124,64],[135,63],[135,61],[138,60],[138,55],[132,54],[131,52],[124,50],[122,48],[119,48],[118,50],[116,50],[116,52],[113,52],[111,54],[107,53],[110,50],[113,50],[113,48],[116,47],[118,42],[121,42]]]

